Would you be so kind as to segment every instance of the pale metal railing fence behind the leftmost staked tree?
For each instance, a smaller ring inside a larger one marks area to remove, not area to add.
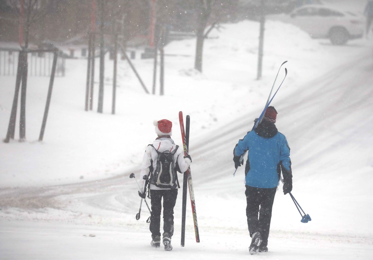
[[[18,64],[18,49],[0,48],[0,76],[15,76]],[[53,53],[31,52],[27,54],[28,76],[50,77]],[[65,76],[65,57],[59,55],[56,64],[56,75]]]

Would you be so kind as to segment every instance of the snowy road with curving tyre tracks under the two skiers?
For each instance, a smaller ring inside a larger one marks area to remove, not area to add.
[[[261,259],[372,259],[373,208],[366,205],[373,203],[373,165],[370,161],[370,167],[359,167],[371,159],[373,143],[373,66],[366,56],[361,51],[313,82],[284,87],[273,101],[279,111],[276,125],[292,148],[293,194],[313,220],[301,223],[291,199],[279,191],[270,252],[260,254]],[[297,90],[285,89],[291,87]],[[191,129],[200,244],[194,241],[188,204],[186,245],[179,247],[179,190],[174,250],[151,248],[145,223],[149,213],[143,205],[140,221],[135,220],[137,186],[126,172],[79,184],[1,189],[0,259],[163,259],[165,254],[175,259],[247,259],[244,174],[242,167],[232,177],[232,149],[257,113],[243,114],[198,140]],[[328,164],[319,165],[325,158]]]

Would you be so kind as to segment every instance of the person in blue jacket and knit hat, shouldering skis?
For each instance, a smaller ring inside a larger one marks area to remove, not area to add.
[[[239,140],[233,150],[235,168],[243,165],[241,156],[247,151],[245,166],[246,216],[250,232],[250,254],[267,252],[272,205],[282,171],[283,193],[292,190],[290,148],[286,137],[276,126],[277,111],[268,107],[262,122]],[[259,215],[259,217],[258,217]]]

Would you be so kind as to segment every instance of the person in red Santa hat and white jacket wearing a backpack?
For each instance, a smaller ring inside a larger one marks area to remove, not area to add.
[[[156,126],[157,138],[151,145],[148,145],[145,151],[144,158],[141,165],[141,179],[144,176],[149,176],[149,189],[151,199],[151,217],[150,217],[150,232],[151,232],[151,245],[153,247],[160,246],[160,215],[162,210],[162,197],[163,197],[163,244],[164,250],[172,250],[171,237],[173,235],[173,208],[175,207],[176,198],[178,196],[179,183],[173,180],[173,187],[157,185],[154,180],[156,176],[157,158],[162,152],[169,151],[173,155],[174,168],[180,173],[185,172],[192,160],[191,157],[184,156],[182,147],[179,148],[171,139],[172,122],[167,119],[154,121]],[[171,176],[172,178],[172,176]],[[153,180],[152,180],[153,179]],[[172,183],[170,183],[172,184]],[[144,181],[145,185],[145,181]],[[139,193],[141,197],[145,197],[146,187],[143,185],[144,190]],[[170,186],[170,185],[169,185]]]

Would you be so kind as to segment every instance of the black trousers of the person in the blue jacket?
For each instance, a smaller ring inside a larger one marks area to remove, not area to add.
[[[269,227],[272,217],[272,205],[275,200],[277,187],[275,188],[254,188],[246,185],[246,216],[250,237],[259,232],[263,242],[268,244]],[[259,209],[260,206],[260,209]],[[259,218],[258,218],[259,214]]]

